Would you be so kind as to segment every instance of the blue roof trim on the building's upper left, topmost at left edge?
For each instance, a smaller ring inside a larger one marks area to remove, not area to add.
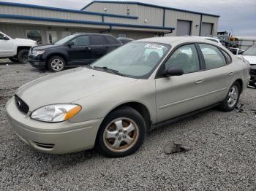
[[[130,16],[130,15],[116,15],[116,14],[109,14],[104,12],[89,12],[89,11],[80,11],[74,9],[63,9],[63,8],[56,8],[56,7],[46,7],[34,4],[20,4],[20,3],[10,3],[10,2],[3,2],[0,1],[0,5],[6,6],[15,6],[15,7],[26,7],[26,8],[34,8],[34,9],[46,9],[46,10],[53,10],[53,11],[61,11],[61,12],[75,12],[80,14],[87,14],[87,15],[100,15],[100,16],[108,16],[108,17],[122,17],[128,19],[138,19],[137,16]]]

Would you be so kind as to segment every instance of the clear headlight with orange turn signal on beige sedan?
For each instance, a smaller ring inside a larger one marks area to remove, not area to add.
[[[74,117],[81,106],[75,104],[54,104],[42,106],[31,114],[31,119],[43,122],[62,122]]]

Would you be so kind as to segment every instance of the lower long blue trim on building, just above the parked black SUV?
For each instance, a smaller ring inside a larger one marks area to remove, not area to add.
[[[162,29],[162,30],[175,30],[175,28],[173,28],[173,27],[141,26],[141,25],[122,24],[122,23],[103,23],[103,22],[89,21],[89,20],[69,20],[69,19],[50,18],[50,17],[32,17],[32,16],[26,16],[26,15],[0,14],[0,18],[52,21],[52,22],[59,22],[59,23],[80,23],[80,24],[91,24],[91,25],[110,26],[110,27],[111,26],[120,26],[120,27],[132,27],[132,28],[151,28],[151,29]]]

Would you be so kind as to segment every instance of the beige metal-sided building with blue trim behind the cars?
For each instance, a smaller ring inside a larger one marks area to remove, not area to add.
[[[218,15],[135,1],[93,1],[81,10],[0,1],[0,31],[43,44],[75,33],[105,33],[133,39],[200,36],[209,31],[217,34],[218,20]],[[183,26],[177,26],[179,23]],[[176,28],[187,29],[179,32]]]

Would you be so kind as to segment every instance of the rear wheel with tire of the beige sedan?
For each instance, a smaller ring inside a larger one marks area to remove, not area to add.
[[[233,85],[231,85],[230,90],[228,90],[227,97],[225,98],[224,101],[222,101],[220,109],[223,112],[230,112],[233,109],[235,109],[240,98],[240,93],[240,84],[238,82],[234,82]]]

